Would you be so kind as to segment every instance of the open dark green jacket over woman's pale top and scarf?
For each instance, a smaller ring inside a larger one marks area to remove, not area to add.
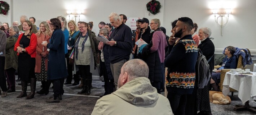
[[[78,39],[80,34],[81,34],[81,32],[79,32],[78,35],[76,36],[75,43],[76,43],[76,40]],[[98,49],[99,41],[95,38],[97,36],[94,35],[92,33],[92,31],[89,31],[88,34],[89,34],[89,39],[91,41],[91,47],[92,47],[92,51],[93,51],[94,69],[96,69],[97,63],[100,63],[100,62],[98,62],[98,60],[99,60],[98,53],[100,52],[100,50]],[[75,52],[74,52],[74,55],[75,55]]]

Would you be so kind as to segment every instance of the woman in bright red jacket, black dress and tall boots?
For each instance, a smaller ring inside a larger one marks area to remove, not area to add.
[[[31,99],[35,95],[36,77],[35,77],[35,63],[36,63],[36,43],[37,37],[32,33],[32,23],[26,20],[22,24],[23,31],[15,43],[14,51],[18,52],[18,74],[21,77],[22,92],[17,98],[27,96],[27,82],[30,82],[31,92],[27,99]]]

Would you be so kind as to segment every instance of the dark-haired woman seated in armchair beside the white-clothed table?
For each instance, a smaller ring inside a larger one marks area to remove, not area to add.
[[[222,66],[217,68],[216,73],[212,73],[211,86],[214,91],[218,91],[218,84],[220,83],[221,69],[235,69],[237,68],[236,57],[234,56],[235,47],[228,46],[225,49],[226,57],[223,60]]]

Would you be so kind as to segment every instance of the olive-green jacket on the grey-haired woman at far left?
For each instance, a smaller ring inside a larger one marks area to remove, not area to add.
[[[14,51],[14,44],[16,43],[17,40],[18,38],[12,36],[8,37],[6,40],[4,69],[18,69],[18,55],[17,52]]]

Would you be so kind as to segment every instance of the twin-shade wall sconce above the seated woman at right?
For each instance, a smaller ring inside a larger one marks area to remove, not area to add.
[[[219,9],[212,9],[212,14],[214,14],[215,17],[215,22],[221,26],[221,36],[223,33],[223,26],[226,25],[229,21],[229,14],[231,14],[231,9],[225,9],[225,13],[221,12],[219,17],[216,18],[216,14],[219,14],[218,12]],[[225,14],[228,14],[228,17],[225,17]],[[221,18],[221,22],[218,22],[218,18]],[[226,18],[226,22],[223,22],[223,18]]]

